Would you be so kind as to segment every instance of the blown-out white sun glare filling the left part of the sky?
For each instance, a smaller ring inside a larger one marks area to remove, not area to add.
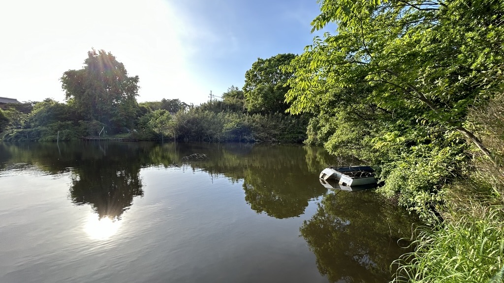
[[[17,93],[19,101],[42,101],[47,95],[62,100],[62,73],[81,68],[87,51],[95,48],[111,52],[130,75],[140,76],[139,101],[160,100],[160,89],[206,97],[186,61],[198,51],[193,37],[201,28],[193,27],[186,19],[192,15],[175,3],[3,1],[0,25],[9,27],[2,30],[5,44],[0,44],[3,90]]]

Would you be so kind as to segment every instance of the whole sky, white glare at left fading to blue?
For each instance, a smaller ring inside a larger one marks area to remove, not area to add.
[[[2,4],[2,97],[64,100],[58,79],[92,47],[140,77],[138,101],[206,102],[242,87],[258,57],[303,51],[316,0],[88,0]]]

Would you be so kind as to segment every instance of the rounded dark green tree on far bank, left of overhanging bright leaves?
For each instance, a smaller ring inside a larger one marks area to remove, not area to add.
[[[292,71],[283,72],[281,67],[290,63],[296,55],[278,54],[268,59],[258,58],[245,73],[243,95],[249,112],[284,112],[288,104],[284,102],[290,87],[287,80]]]

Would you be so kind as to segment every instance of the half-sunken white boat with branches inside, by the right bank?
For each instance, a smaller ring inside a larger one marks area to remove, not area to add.
[[[369,166],[328,167],[320,173],[323,180],[336,180],[345,186],[375,184],[374,170]]]

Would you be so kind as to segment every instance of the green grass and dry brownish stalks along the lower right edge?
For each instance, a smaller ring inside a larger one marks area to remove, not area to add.
[[[500,94],[470,111],[469,121],[494,158],[476,153],[471,174],[442,195],[445,222],[423,228],[417,249],[406,254],[398,282],[502,282],[504,279],[504,116]]]

